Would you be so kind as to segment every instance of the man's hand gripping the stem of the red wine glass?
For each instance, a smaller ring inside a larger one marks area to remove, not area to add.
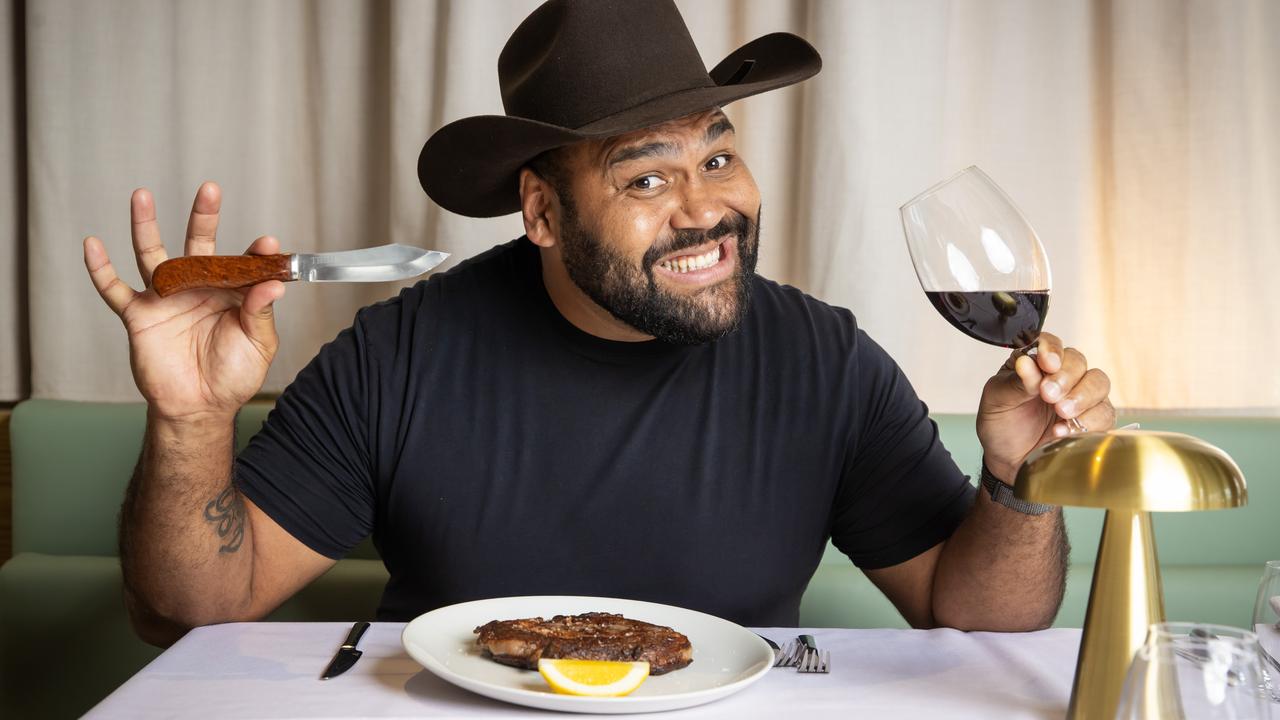
[[[1037,447],[1070,434],[1068,419],[1107,430],[1116,413],[1107,393],[1111,378],[1074,347],[1041,333],[1034,356],[1015,351],[987,380],[978,405],[978,441],[987,469],[1012,484],[1018,468]]]

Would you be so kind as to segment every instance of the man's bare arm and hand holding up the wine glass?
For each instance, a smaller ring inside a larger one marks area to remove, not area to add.
[[[1070,430],[1115,424],[1106,373],[1042,333],[1036,357],[1010,355],[983,388],[978,439],[983,462],[1012,484],[1032,450]],[[909,623],[963,630],[1036,630],[1062,605],[1070,550],[1062,511],[1025,515],[978,491],[969,515],[943,543],[906,562],[868,571]]]

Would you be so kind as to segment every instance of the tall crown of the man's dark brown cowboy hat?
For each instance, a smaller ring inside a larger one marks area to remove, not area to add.
[[[498,82],[508,115],[566,128],[716,85],[672,0],[549,0],[503,46]]]

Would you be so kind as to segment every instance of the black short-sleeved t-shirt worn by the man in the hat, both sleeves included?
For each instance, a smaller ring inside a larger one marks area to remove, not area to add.
[[[588,594],[795,625],[828,538],[886,568],[973,500],[847,310],[754,277],[717,342],[607,341],[556,310],[525,238],[360,310],[236,479],[328,557],[372,533],[380,620]]]

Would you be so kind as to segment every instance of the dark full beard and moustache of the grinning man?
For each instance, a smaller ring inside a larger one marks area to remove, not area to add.
[[[708,343],[742,324],[759,255],[759,211],[754,222],[731,210],[710,229],[676,231],[668,238],[659,238],[636,266],[581,222],[571,200],[562,196],[561,205],[564,210],[561,231],[564,269],[582,292],[618,320],[673,345]],[[691,295],[658,287],[653,266],[662,256],[731,234],[737,236],[737,264],[732,275]]]

